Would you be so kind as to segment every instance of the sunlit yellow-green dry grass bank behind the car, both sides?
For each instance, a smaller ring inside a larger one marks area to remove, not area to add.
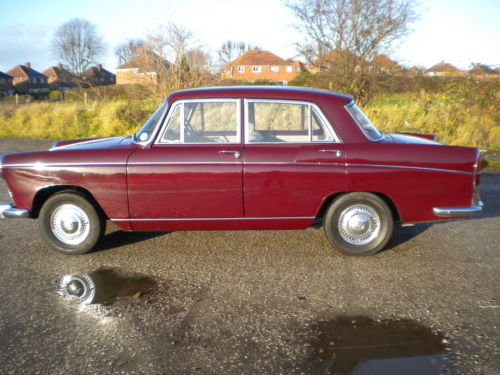
[[[382,95],[363,109],[383,131],[436,134],[442,143],[499,150],[499,104],[496,90],[466,86],[450,87],[445,93]],[[2,105],[0,136],[69,139],[127,135],[158,105],[158,101],[127,100],[94,102],[87,107],[49,102]]]

